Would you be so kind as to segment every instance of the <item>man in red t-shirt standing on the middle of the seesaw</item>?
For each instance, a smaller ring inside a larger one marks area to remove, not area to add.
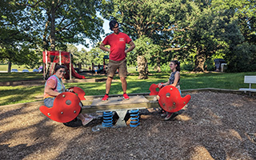
[[[110,21],[110,30],[113,30],[114,33],[106,36],[102,44],[99,46],[100,49],[110,53],[110,60],[108,64],[106,79],[106,94],[102,98],[102,101],[107,101],[109,98],[110,86],[116,70],[118,70],[119,78],[122,82],[122,96],[124,99],[128,100],[129,96],[126,94],[126,54],[131,50],[134,50],[135,44],[127,34],[124,34],[119,31],[119,24],[117,21]],[[130,47],[127,50],[126,43],[130,45]],[[110,49],[106,48],[106,45],[110,45]]]

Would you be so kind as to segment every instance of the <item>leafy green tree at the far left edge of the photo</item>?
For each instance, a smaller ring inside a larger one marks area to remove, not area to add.
[[[8,61],[8,72],[11,64],[22,64],[30,67],[38,65],[36,38],[30,31],[24,14],[25,7],[15,1],[2,1],[0,6],[0,60]]]

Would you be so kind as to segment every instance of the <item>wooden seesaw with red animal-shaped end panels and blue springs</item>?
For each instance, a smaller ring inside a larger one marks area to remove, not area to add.
[[[125,117],[130,113],[130,126],[138,126],[139,114],[138,110],[147,108],[159,108],[174,113],[182,110],[190,101],[190,95],[181,97],[179,91],[174,86],[165,86],[159,89],[155,84],[150,86],[150,95],[131,95],[129,100],[124,100],[120,96],[113,96],[106,102],[102,102],[101,98],[86,99],[85,92],[79,88],[73,87],[74,93],[64,92],[59,94],[54,100],[54,106],[47,108],[41,106],[42,114],[56,122],[71,122],[79,113],[102,113],[103,122],[101,125],[94,126],[93,131],[102,130],[107,127],[123,127],[126,126]],[[159,91],[158,91],[159,90]],[[160,99],[157,101],[155,96]],[[118,121],[113,125],[113,113],[118,115]]]

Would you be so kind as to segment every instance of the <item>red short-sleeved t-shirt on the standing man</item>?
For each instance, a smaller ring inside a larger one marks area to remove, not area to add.
[[[126,58],[126,43],[128,44],[131,38],[122,32],[119,34],[110,34],[106,36],[103,43],[110,45],[110,59],[113,61],[122,61]]]

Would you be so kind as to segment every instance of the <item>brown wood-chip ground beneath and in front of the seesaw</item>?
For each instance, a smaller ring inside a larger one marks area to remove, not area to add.
[[[142,110],[138,127],[92,132],[51,121],[39,106],[0,107],[1,159],[256,159],[256,98],[190,94],[185,112],[165,122]]]

